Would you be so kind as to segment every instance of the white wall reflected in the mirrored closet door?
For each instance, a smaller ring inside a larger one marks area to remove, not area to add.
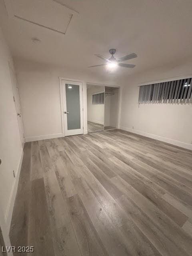
[[[104,124],[104,104],[92,104],[92,94],[104,92],[104,86],[91,86],[87,89],[87,120]]]

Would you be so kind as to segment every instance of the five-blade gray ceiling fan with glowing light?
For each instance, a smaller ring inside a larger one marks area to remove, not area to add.
[[[106,64],[100,64],[100,65],[94,65],[94,66],[89,66],[88,68],[93,68],[93,67],[98,67],[98,66],[108,66],[109,68],[116,68],[117,66],[124,67],[124,68],[134,68],[135,65],[133,64],[126,64],[126,63],[121,63],[122,61],[125,60],[131,60],[133,58],[137,58],[136,53],[131,53],[128,54],[124,57],[119,58],[118,60],[114,57],[114,54],[116,52],[116,49],[110,49],[109,50],[110,54],[112,55],[109,59],[105,58],[104,56],[100,54],[95,54],[98,58],[104,60]]]

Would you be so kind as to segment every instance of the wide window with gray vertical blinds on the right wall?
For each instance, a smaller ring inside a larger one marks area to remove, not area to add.
[[[192,104],[192,78],[140,86],[139,104],[144,103]]]

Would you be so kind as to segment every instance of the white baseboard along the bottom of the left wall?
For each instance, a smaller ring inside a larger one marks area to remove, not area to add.
[[[14,202],[15,202],[16,193],[17,193],[17,187],[18,187],[18,183],[19,183],[19,176],[20,176],[22,161],[23,161],[23,150],[22,150],[22,154],[21,154],[20,161],[18,164],[16,178],[14,179],[14,183],[12,185],[11,194],[10,194],[10,198],[9,198],[9,202],[8,202],[8,206],[7,206],[7,210],[6,210],[6,214],[5,214],[5,222],[6,222],[6,226],[7,226],[8,230],[10,230],[13,207],[14,207]]]

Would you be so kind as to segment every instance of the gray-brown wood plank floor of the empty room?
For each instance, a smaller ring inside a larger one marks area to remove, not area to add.
[[[35,256],[191,256],[192,151],[122,130],[28,142],[10,239]]]

